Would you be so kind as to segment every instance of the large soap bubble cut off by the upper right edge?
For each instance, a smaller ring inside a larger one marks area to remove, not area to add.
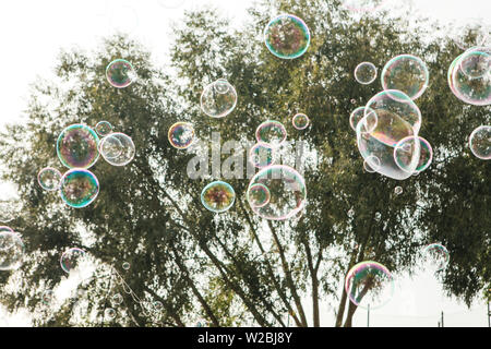
[[[476,49],[458,56],[448,68],[448,86],[460,100],[475,105],[491,104],[491,70],[487,68],[484,49]]]

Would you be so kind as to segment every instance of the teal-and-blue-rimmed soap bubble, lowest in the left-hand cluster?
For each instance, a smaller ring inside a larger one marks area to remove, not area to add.
[[[61,178],[60,195],[64,203],[74,208],[88,206],[99,193],[99,181],[88,170],[75,168]]]

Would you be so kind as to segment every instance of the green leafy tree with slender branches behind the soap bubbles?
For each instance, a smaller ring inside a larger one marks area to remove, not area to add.
[[[279,60],[267,51],[262,32],[271,9],[308,23],[312,43],[304,56]],[[474,128],[489,123],[490,108],[452,95],[446,70],[458,49],[431,35],[435,25],[415,28],[406,17],[354,17],[338,1],[262,1],[244,27],[232,29],[205,9],[188,13],[176,28],[171,74],[153,67],[151,55],[125,36],[107,39],[95,53],[63,52],[57,80],[35,84],[28,121],[1,137],[2,174],[17,184],[23,205],[11,226],[26,244],[23,266],[0,274],[1,302],[10,310],[27,306],[39,326],[100,325],[117,292],[124,302],[112,326],[193,326],[202,318],[209,326],[286,326],[288,314],[296,326],[319,326],[320,302],[334,299],[336,326],[351,326],[357,308],[343,281],[352,265],[373,260],[395,274],[414,273],[421,246],[440,241],[451,253],[442,282],[470,304],[491,287],[490,170],[466,142]],[[379,81],[358,84],[356,65],[368,60],[381,68],[400,53],[429,65],[430,87],[417,104],[421,135],[435,149],[430,169],[403,183],[363,172],[348,122],[351,110],[381,89]],[[137,68],[139,80],[128,88],[105,79],[116,58]],[[239,103],[217,120],[201,112],[200,95],[219,77],[236,87]],[[308,131],[290,127],[297,112],[310,117]],[[194,155],[169,145],[169,127],[190,121],[203,142],[219,132],[221,143],[246,144],[267,119],[282,121],[290,141],[308,144],[306,213],[263,221],[244,200],[248,179],[228,180],[237,193],[232,209],[207,212],[200,193],[213,177],[188,177]],[[68,208],[41,191],[37,172],[61,168],[56,140],[67,125],[100,120],[133,139],[136,157],[123,168],[100,159],[92,168],[99,196],[86,208]],[[397,197],[396,185],[404,186]],[[64,278],[59,257],[72,246],[94,257],[96,272],[79,286],[83,297],[48,309],[40,294]],[[124,261],[129,270],[121,268]],[[155,301],[163,310],[151,306]]]

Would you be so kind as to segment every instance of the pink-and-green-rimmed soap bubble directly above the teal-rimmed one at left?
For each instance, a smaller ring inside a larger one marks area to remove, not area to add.
[[[99,137],[89,127],[72,124],[57,141],[57,154],[68,168],[91,168],[99,158]]]

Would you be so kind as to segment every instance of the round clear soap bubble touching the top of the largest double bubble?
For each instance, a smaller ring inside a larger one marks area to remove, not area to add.
[[[428,87],[430,73],[427,64],[412,55],[400,55],[391,59],[382,70],[384,89],[404,92],[412,100],[419,98]]]

